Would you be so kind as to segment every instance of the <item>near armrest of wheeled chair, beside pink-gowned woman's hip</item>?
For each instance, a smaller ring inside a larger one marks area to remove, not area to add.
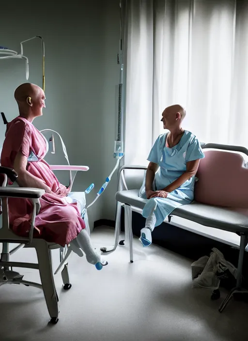
[[[0,198],[39,199],[45,194],[44,189],[32,187],[0,187]]]

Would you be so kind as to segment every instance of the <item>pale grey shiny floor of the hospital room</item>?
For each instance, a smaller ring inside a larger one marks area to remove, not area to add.
[[[96,248],[111,245],[114,231],[102,227],[92,234]],[[35,261],[23,249],[18,261]],[[13,258],[14,258],[13,256]],[[54,266],[59,254],[53,251]],[[49,319],[43,293],[35,288],[0,287],[1,341],[243,341],[248,340],[248,304],[232,301],[220,314],[220,301],[210,292],[192,289],[191,261],[152,245],[142,248],[134,240],[134,263],[126,246],[108,256],[109,265],[97,271],[85,257],[70,258],[72,288],[62,290],[60,321]],[[22,270],[28,280],[39,280],[37,270]],[[225,293],[222,293],[224,297]]]

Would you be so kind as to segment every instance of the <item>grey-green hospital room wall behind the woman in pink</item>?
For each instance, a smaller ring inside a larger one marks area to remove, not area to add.
[[[1,5],[0,46],[19,51],[19,42],[34,35],[45,39],[47,109],[34,121],[38,129],[58,131],[65,142],[71,164],[85,164],[90,171],[76,177],[75,190],[91,183],[96,191],[115,165],[115,86],[119,83],[119,0],[70,0],[5,2]],[[15,11],[13,11],[15,8]],[[28,11],[27,11],[28,9]],[[41,49],[37,39],[24,46],[30,61],[29,81],[42,86]],[[22,60],[0,61],[0,111],[8,121],[17,116],[13,99],[16,87],[25,82]],[[0,124],[0,146],[5,126]],[[49,134],[48,134],[49,135]],[[49,163],[66,163],[56,139],[56,154]],[[58,175],[58,174],[56,174]],[[106,192],[89,209],[91,227],[98,219],[114,219],[116,176]],[[67,173],[59,175],[66,182]]]

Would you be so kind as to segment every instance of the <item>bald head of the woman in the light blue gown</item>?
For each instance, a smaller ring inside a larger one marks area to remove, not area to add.
[[[183,119],[186,116],[186,110],[179,104],[174,104],[164,109],[162,113],[162,122],[164,129],[174,129],[181,126]]]

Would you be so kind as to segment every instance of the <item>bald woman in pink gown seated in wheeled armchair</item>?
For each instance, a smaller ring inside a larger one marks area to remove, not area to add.
[[[87,261],[100,270],[106,263],[101,262],[100,255],[91,244],[78,203],[66,201],[69,190],[59,183],[44,160],[47,140],[32,124],[35,117],[42,115],[45,93],[37,85],[25,83],[16,89],[15,99],[19,116],[7,124],[0,164],[17,172],[19,186],[46,191],[40,199],[41,208],[35,219],[34,237],[62,247],[70,244],[78,255],[82,255],[83,250]],[[8,202],[13,231],[17,235],[28,236],[32,203],[28,199],[18,198],[9,198]]]

